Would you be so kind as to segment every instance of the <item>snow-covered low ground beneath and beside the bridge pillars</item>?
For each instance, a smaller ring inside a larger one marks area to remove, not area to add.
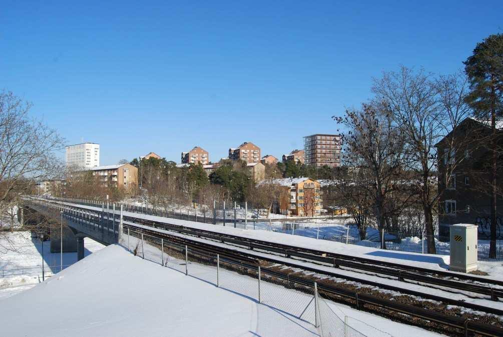
[[[43,244],[44,276],[60,270],[60,254],[50,252],[50,241]],[[42,281],[42,243],[31,238],[30,232],[7,233],[0,239],[0,299],[29,289]],[[85,256],[104,246],[92,239],[84,239]],[[63,253],[63,269],[77,261],[77,253]]]

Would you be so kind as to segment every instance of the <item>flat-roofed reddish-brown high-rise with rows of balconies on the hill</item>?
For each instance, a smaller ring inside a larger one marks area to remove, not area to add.
[[[321,167],[341,165],[341,135],[311,135],[304,137],[305,164]]]

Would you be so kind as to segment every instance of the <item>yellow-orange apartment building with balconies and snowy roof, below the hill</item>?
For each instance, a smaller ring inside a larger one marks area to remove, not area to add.
[[[264,180],[261,184],[275,184],[282,189],[273,211],[285,215],[316,216],[321,213],[320,183],[311,178]]]

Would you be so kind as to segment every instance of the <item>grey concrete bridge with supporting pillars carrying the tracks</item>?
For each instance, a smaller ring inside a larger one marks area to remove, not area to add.
[[[63,253],[77,252],[77,259],[84,257],[84,238],[91,238],[103,245],[118,242],[122,224],[122,210],[115,209],[115,204],[102,207],[72,205],[67,207],[62,203],[38,198],[26,198],[25,209],[21,212],[38,212],[54,222],[62,222],[51,229],[51,252],[61,250],[61,232]],[[21,215],[22,218],[25,216]]]

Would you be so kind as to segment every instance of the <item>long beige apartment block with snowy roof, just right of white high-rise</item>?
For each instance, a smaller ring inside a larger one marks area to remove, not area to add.
[[[104,187],[129,191],[138,186],[138,169],[131,164],[98,166],[87,171],[92,171]]]

